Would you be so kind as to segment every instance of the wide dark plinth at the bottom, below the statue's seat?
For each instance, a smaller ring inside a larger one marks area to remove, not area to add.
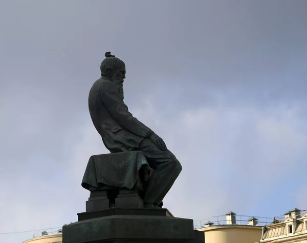
[[[201,232],[203,234],[203,232]],[[63,243],[204,243],[186,218],[147,215],[111,215],[63,226]]]

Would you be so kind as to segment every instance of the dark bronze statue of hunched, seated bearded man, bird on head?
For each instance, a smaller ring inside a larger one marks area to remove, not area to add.
[[[89,94],[93,124],[111,153],[141,151],[154,169],[149,178],[144,207],[162,206],[162,200],[179,176],[182,166],[166,148],[162,138],[135,118],[124,103],[125,63],[105,53],[101,78]]]

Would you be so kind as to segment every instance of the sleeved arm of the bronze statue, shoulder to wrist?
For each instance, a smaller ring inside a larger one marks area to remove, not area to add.
[[[125,105],[120,93],[112,82],[102,87],[102,102],[116,122],[124,129],[140,137],[147,137],[151,130],[135,118]]]

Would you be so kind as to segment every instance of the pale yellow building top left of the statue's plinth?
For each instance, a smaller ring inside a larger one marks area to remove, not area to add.
[[[62,243],[62,229],[38,232],[23,243]]]

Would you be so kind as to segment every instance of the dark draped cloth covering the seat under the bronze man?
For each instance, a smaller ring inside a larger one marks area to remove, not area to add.
[[[151,171],[140,151],[92,155],[81,185],[90,191],[109,188],[144,191]]]

